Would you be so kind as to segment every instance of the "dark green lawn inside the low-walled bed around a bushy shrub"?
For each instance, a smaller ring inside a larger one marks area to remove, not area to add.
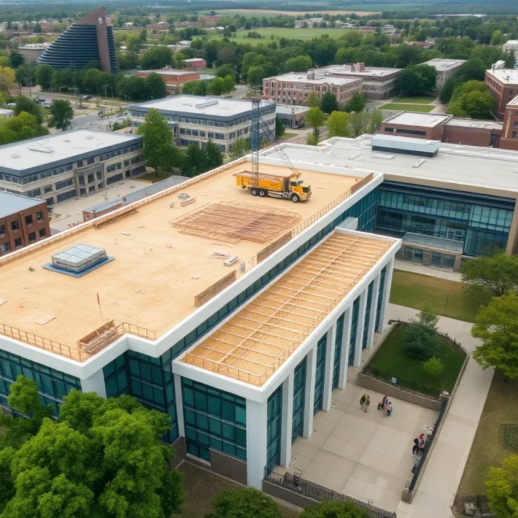
[[[438,393],[443,390],[451,391],[466,355],[450,347],[447,340],[441,339],[437,357],[443,363],[444,370],[439,376],[430,377],[425,372],[421,360],[407,356],[402,351],[404,333],[404,326],[395,327],[376,351],[369,367],[380,369],[387,375],[397,378],[401,386],[405,385],[405,380],[411,384],[424,385]]]

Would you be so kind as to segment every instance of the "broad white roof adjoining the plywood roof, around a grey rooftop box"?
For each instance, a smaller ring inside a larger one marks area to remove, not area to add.
[[[404,137],[393,137],[402,139]],[[293,143],[281,144],[282,150],[295,167],[305,164],[336,165],[354,170],[383,172],[385,175],[400,175],[404,178],[419,178],[429,181],[450,182],[451,189],[462,190],[461,185],[481,186],[491,190],[505,190],[518,193],[518,152],[503,149],[486,149],[477,146],[461,146],[440,143],[439,151],[433,157],[372,151],[372,135],[356,139],[333,137],[320,146],[302,146]],[[277,152],[267,149],[264,157],[276,159]],[[419,167],[417,162],[424,159]],[[504,195],[496,193],[496,195]]]

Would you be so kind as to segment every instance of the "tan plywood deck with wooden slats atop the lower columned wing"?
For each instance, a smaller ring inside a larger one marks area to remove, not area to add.
[[[333,234],[182,361],[263,385],[392,244]]]

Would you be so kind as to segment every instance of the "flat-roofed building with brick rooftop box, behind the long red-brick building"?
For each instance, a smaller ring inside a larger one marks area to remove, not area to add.
[[[348,77],[362,80],[362,93],[367,99],[385,99],[395,93],[401,68],[372,67],[364,63],[329,65],[315,70],[319,77]]]

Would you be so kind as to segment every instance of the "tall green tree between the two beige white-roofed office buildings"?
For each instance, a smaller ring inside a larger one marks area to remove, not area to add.
[[[142,135],[146,165],[155,170],[170,171],[181,165],[181,153],[172,143],[172,130],[162,114],[155,108],[148,111],[145,121],[137,128]]]

